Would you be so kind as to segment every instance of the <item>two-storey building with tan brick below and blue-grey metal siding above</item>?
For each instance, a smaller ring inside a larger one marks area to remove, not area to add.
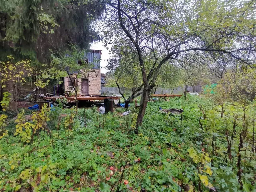
[[[100,75],[100,57],[101,50],[90,50],[85,55],[85,60],[93,63],[93,69],[81,74],[81,78],[76,79],[75,86],[79,87],[77,92],[79,95],[100,95],[101,94],[101,75]],[[95,61],[97,60],[97,61]],[[95,61],[95,62],[94,62]],[[64,78],[65,92],[72,92],[72,83],[69,77]]]

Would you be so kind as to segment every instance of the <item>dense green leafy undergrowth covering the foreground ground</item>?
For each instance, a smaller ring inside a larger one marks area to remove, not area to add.
[[[149,102],[138,135],[133,103],[126,116],[123,108],[77,115],[55,108],[46,111],[47,128],[31,136],[28,125],[9,123],[0,140],[0,191],[253,191],[253,104],[226,103],[221,118],[221,106],[205,97]]]

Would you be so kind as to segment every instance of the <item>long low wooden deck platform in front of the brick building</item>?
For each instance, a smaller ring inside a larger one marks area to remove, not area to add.
[[[61,99],[61,98],[65,98],[68,101],[75,101],[76,98],[75,97],[45,97],[43,99],[45,100],[52,100],[52,101],[56,101],[56,99]],[[78,101],[94,101],[94,100],[105,100],[105,99],[109,99],[109,100],[120,100],[120,97],[114,97],[114,96],[91,96],[91,97],[82,97],[81,95],[79,95],[77,97]]]

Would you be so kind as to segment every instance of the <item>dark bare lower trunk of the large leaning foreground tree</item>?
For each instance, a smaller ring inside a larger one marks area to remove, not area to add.
[[[144,87],[142,92],[142,102],[140,103],[140,110],[139,110],[137,122],[136,122],[135,134],[138,134],[138,127],[142,123],[142,120],[146,111],[146,107],[147,107],[149,94],[150,94],[150,90],[146,90],[146,88]]]

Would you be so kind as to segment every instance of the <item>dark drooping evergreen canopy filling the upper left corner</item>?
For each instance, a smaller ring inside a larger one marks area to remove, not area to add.
[[[52,52],[59,53],[75,44],[89,48],[99,36],[92,22],[104,11],[101,1],[0,1],[1,60],[16,59],[49,63]]]

